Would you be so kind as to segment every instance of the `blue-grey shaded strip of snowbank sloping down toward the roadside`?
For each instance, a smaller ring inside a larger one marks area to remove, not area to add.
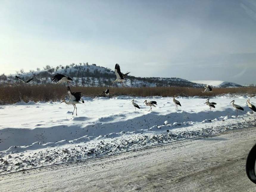
[[[167,129],[178,128],[178,126],[190,127],[193,126],[194,122],[203,123],[205,118],[221,120],[224,116],[233,115],[235,113],[231,108],[227,108],[223,111],[202,111],[199,113],[188,113],[185,111],[168,113],[166,115],[159,115],[158,112],[152,111],[151,113],[146,113],[144,115],[127,119],[129,115],[118,114],[112,115],[105,118],[99,118],[99,121],[90,122],[87,121],[90,118],[88,117],[73,117],[71,120],[62,119],[60,122],[50,124],[49,127],[35,127],[34,129],[25,129],[25,128],[3,128],[0,129],[0,151],[7,150],[10,146],[24,146],[31,145],[40,141],[41,143],[52,142],[56,143],[58,141],[66,140],[72,141],[76,140],[79,142],[87,142],[88,138],[97,138],[100,135],[108,137],[110,134],[116,133],[117,136],[120,136],[120,132],[141,132],[141,130],[154,133],[162,133]],[[242,114],[246,114],[246,111],[243,111]],[[222,116],[221,119],[219,119]],[[233,118],[233,117],[229,117]],[[114,120],[117,121],[114,121]],[[74,123],[71,122],[82,122]],[[164,122],[168,121],[170,124],[174,122],[179,122],[177,126],[168,126],[164,125]],[[66,122],[66,123],[65,123]],[[187,124],[182,124],[183,122],[192,122]],[[211,123],[210,121],[205,121]],[[46,122],[45,122],[46,123]],[[56,125],[57,124],[57,125]],[[181,125],[182,124],[182,125]],[[161,126],[161,129],[158,129],[157,126]],[[58,145],[62,145],[58,143]],[[65,142],[64,142],[65,144]],[[15,149],[12,149],[15,150]],[[24,150],[28,150],[24,148]]]

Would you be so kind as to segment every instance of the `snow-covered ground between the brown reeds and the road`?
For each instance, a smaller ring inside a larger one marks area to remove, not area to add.
[[[141,107],[136,110],[131,100]],[[145,99],[157,107],[143,105]],[[244,107],[238,113],[230,102]],[[219,96],[212,111],[199,97],[84,98],[72,116],[71,105],[29,102],[0,107],[0,174],[54,163],[83,160],[180,139],[255,126],[246,96]],[[256,97],[251,99],[252,103]]]

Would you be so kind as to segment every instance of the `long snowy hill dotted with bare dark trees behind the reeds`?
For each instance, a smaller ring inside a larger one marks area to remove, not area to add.
[[[125,71],[126,72],[126,71]],[[50,78],[54,74],[64,74],[73,79],[73,84],[78,86],[122,86],[121,84],[113,84],[115,80],[115,73],[109,68],[96,66],[96,64],[88,65],[60,65],[55,68],[46,66],[44,70],[18,72],[17,74],[10,74],[9,76],[1,75],[0,83],[17,83],[15,75],[21,79],[33,78],[31,84],[45,84],[50,83]],[[126,87],[156,87],[156,86],[180,86],[180,87],[202,87],[201,84],[194,83],[181,78],[160,78],[160,77],[134,77],[132,72],[126,78],[124,83]]]

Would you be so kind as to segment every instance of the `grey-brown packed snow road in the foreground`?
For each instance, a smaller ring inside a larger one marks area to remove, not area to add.
[[[0,191],[256,191],[256,127],[1,175]]]

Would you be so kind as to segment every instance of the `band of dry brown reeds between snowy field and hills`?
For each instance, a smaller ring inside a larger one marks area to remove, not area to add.
[[[71,91],[82,92],[85,96],[101,96],[105,87],[71,87]],[[203,88],[185,87],[145,87],[145,88],[110,88],[110,96],[216,96],[221,94],[249,94],[255,96],[255,87],[244,88],[214,88],[212,93],[201,93]],[[49,101],[52,99],[64,99],[67,96],[67,89],[64,85],[1,85],[0,104],[15,103],[20,100]]]

